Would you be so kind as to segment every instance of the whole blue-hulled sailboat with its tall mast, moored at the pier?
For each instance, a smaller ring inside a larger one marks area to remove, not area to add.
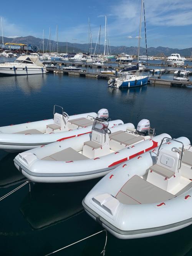
[[[141,41],[141,23],[142,23],[142,11],[143,11],[143,0],[141,0],[141,18],[140,18],[140,30],[139,30],[139,46],[138,46],[138,58],[137,63],[139,63],[139,50],[140,50],[140,41]],[[146,44],[147,46],[147,44]],[[147,47],[146,47],[147,50]],[[131,69],[131,70],[129,70]],[[127,68],[124,71],[133,71],[139,70],[139,64],[134,67]],[[108,85],[115,88],[133,88],[136,86],[147,85],[149,76],[140,76],[140,75],[133,75],[133,74],[126,74],[125,76],[119,78],[113,78],[108,81]]]

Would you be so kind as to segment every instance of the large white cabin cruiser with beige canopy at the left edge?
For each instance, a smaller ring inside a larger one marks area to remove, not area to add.
[[[0,75],[45,74],[46,68],[38,57],[20,56],[14,62],[0,63]]]

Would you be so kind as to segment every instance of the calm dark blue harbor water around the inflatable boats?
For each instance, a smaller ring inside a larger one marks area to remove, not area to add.
[[[53,116],[53,105],[69,114],[108,108],[112,119],[151,122],[156,134],[192,141],[192,88],[143,86],[109,88],[107,80],[57,74],[0,77],[0,126]],[[13,164],[17,154],[0,151],[0,197],[25,181]],[[45,255],[103,228],[83,210],[81,201],[98,182],[24,186],[0,201],[0,255]],[[173,213],[177,214],[177,213]],[[145,221],[143,219],[143,221]],[[192,255],[192,226],[144,239],[119,240],[108,233],[106,255]],[[100,255],[101,233],[54,255]]]

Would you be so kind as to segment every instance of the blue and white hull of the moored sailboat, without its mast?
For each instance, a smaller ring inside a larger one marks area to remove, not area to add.
[[[115,88],[133,88],[147,85],[149,76],[126,75],[113,78],[108,81],[108,85]]]

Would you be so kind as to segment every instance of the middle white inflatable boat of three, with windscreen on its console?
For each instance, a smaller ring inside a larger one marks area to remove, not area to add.
[[[149,120],[142,120],[146,133]],[[138,125],[141,129],[142,127]],[[110,170],[156,147],[165,136],[139,135],[126,123],[110,128],[109,122],[96,118],[92,133],[58,141],[18,154],[15,166],[34,182],[73,182],[106,175]]]

